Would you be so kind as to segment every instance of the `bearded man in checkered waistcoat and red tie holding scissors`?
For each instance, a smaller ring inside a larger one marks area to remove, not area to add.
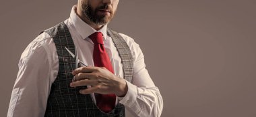
[[[107,28],[119,0],[78,0],[22,53],[7,116],[160,116],[139,45]]]

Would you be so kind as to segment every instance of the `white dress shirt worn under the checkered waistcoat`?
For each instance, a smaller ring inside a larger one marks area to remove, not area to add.
[[[82,21],[76,15],[75,10],[76,5],[73,6],[65,24],[75,43],[79,60],[94,66],[92,57],[94,43],[88,36],[96,30]],[[115,75],[123,78],[121,57],[111,37],[106,34],[106,29],[107,25],[104,25],[99,30],[104,35],[104,47],[110,57]],[[127,82],[128,92],[125,97],[118,98],[117,101],[125,105],[125,109],[133,116],[160,116],[163,108],[162,96],[145,68],[143,53],[131,37],[122,33],[120,35],[129,45],[134,63],[133,80],[131,83]],[[55,81],[59,70],[59,60],[53,38],[46,33],[38,35],[22,53],[18,66],[19,72],[11,94],[7,116],[44,116],[51,84]]]

